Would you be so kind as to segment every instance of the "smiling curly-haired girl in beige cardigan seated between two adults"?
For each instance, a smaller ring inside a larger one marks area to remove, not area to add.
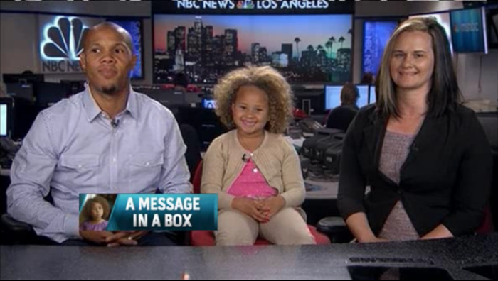
[[[282,137],[292,116],[289,84],[272,67],[228,73],[215,87],[216,114],[232,131],[204,158],[201,191],[218,194],[216,245],[314,244],[297,207],[304,202],[300,160]]]

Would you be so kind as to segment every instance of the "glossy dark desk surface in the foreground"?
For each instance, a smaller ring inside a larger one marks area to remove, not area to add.
[[[94,248],[0,246],[1,280],[350,279],[348,267],[440,268],[455,280],[483,280],[462,268],[492,265],[498,234],[443,241],[331,246]],[[428,276],[434,277],[434,276]]]

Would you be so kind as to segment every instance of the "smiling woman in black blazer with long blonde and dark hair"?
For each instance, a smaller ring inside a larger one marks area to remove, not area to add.
[[[379,99],[359,111],[342,150],[338,205],[351,232],[370,243],[475,231],[492,154],[475,113],[459,104],[444,28],[432,18],[401,24],[376,89]]]

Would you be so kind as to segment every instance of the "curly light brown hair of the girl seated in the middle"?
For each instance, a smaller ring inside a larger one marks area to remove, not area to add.
[[[284,133],[294,109],[294,94],[285,77],[273,67],[243,67],[222,77],[214,88],[216,115],[228,128],[235,128],[232,104],[238,89],[252,85],[268,95],[269,113],[266,129],[271,133]]]

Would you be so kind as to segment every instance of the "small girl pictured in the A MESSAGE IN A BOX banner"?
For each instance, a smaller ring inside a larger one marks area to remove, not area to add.
[[[80,231],[105,231],[109,209],[109,203],[104,197],[97,195],[89,199],[81,211],[80,219],[83,223],[80,224]]]

